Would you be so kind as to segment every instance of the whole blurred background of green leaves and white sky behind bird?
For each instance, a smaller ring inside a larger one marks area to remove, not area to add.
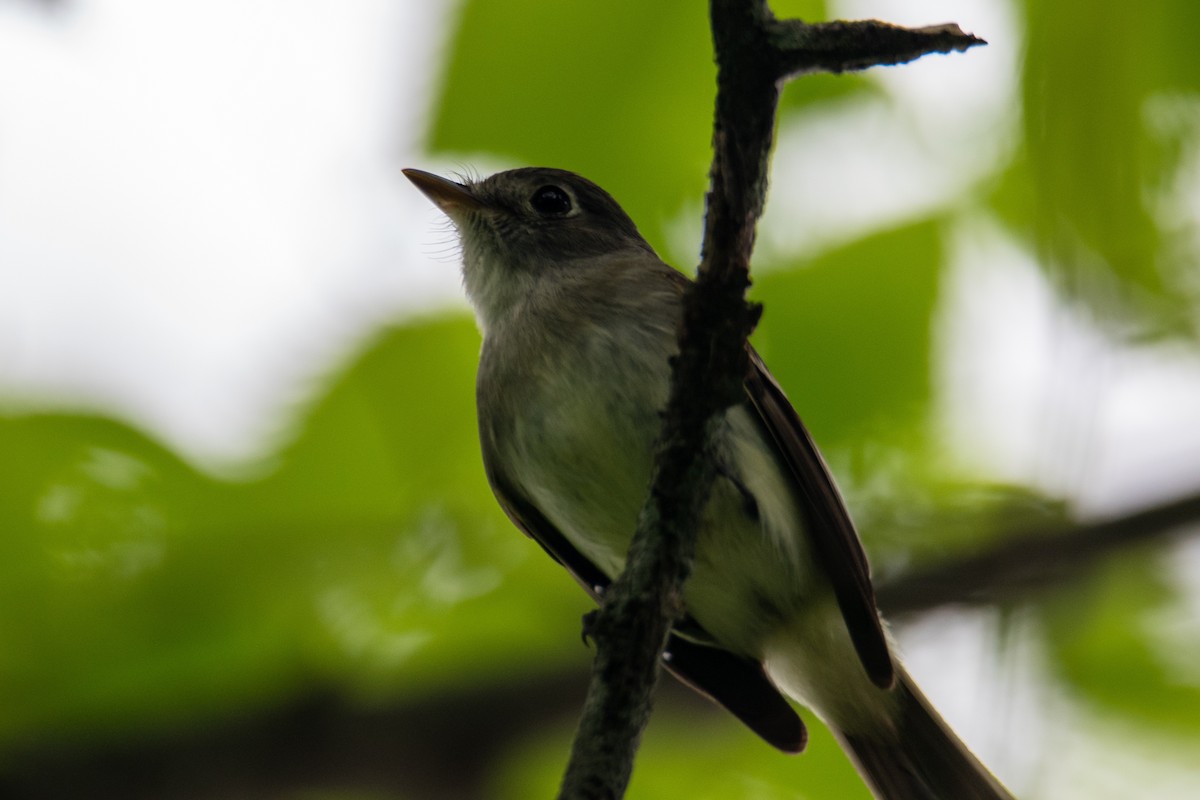
[[[755,335],[911,672],[1026,799],[1200,787],[1200,7],[784,92]],[[703,4],[0,0],[0,795],[551,796],[589,602],[497,509],[451,229],[556,166],[698,260]],[[634,798],[868,798],[664,679]]]

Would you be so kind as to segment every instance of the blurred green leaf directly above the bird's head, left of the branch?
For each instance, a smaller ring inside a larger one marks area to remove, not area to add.
[[[654,240],[704,190],[712,64],[691,2],[473,0],[430,145],[587,175]]]

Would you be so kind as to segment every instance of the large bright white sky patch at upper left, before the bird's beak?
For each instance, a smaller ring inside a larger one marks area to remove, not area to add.
[[[427,161],[445,17],[388,0],[0,5],[5,393],[235,459],[382,319],[461,302],[398,173]]]

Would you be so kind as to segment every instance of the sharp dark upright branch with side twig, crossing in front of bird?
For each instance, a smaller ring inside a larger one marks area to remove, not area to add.
[[[745,341],[761,312],[744,296],[780,83],[816,68],[896,64],[970,47],[947,44],[954,36],[948,26],[906,37],[904,29],[881,23],[780,23],[764,0],[710,0],[709,16],[718,86],[702,259],[684,297],[649,497],[625,570],[588,625],[596,656],[562,800],[624,796],[649,720],[659,658],[682,610],[695,531],[714,477],[709,431],[743,399]]]

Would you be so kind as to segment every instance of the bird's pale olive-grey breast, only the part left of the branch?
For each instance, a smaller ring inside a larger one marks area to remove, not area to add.
[[[521,492],[616,576],[649,488],[673,339],[600,325],[547,333],[539,357],[480,367],[480,414]],[[521,350],[505,345],[505,353]],[[486,393],[486,398],[485,398]],[[487,445],[485,444],[485,447]]]

